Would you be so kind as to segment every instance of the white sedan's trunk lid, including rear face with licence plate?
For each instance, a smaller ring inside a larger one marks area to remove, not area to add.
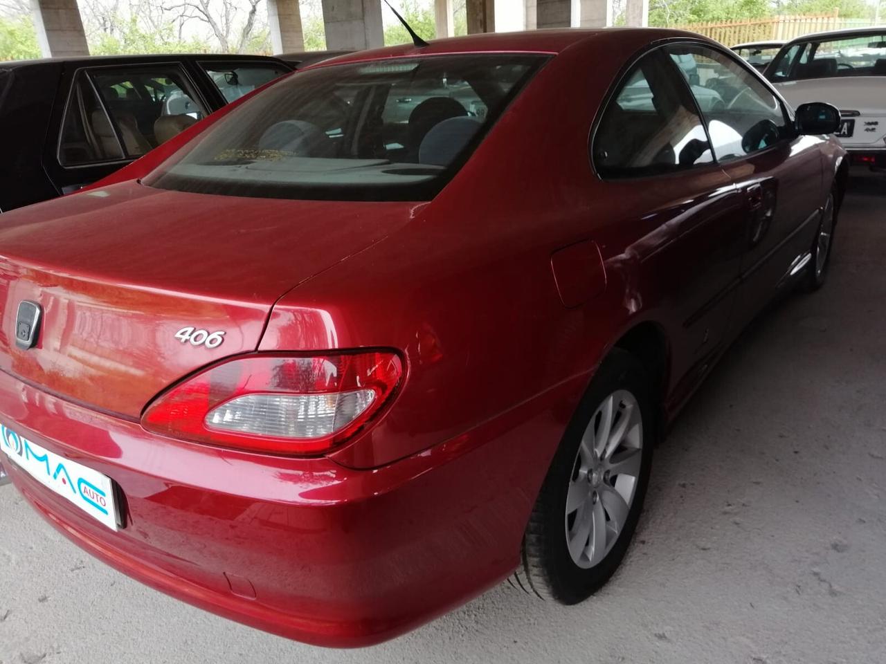
[[[775,88],[797,108],[827,102],[843,113],[840,143],[850,149],[886,150],[886,76],[846,76],[777,83]]]

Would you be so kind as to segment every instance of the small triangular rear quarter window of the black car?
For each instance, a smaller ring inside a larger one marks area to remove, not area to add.
[[[62,166],[85,166],[124,158],[120,142],[95,89],[80,72],[68,95],[58,141]]]

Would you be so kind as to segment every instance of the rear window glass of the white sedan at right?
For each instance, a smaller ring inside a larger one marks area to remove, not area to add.
[[[767,76],[772,81],[886,76],[886,30],[792,44],[781,50]]]

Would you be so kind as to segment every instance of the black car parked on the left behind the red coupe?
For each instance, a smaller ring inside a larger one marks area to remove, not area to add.
[[[240,55],[0,63],[0,212],[100,180],[291,71]]]

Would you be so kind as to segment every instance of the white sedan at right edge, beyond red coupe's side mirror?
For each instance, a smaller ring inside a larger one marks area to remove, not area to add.
[[[840,109],[836,136],[852,160],[886,167],[886,27],[798,37],[766,67],[794,108],[811,101]]]

